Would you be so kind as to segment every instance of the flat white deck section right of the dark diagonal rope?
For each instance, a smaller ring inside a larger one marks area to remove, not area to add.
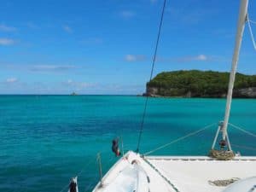
[[[220,192],[209,181],[256,176],[256,157],[212,160],[209,157],[147,157],[181,192]],[[256,184],[256,183],[255,183]]]

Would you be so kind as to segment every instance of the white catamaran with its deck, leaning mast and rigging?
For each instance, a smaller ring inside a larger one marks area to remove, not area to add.
[[[163,6],[160,28],[165,7],[166,1]],[[236,32],[236,46],[230,71],[230,83],[224,121],[218,123],[218,130],[213,139],[209,155],[152,156],[149,154],[186,137],[191,137],[200,131],[204,131],[211,125],[208,125],[199,131],[189,133],[184,137],[177,138],[175,141],[166,143],[146,154],[140,154],[138,148],[135,152],[127,152],[123,158],[117,161],[107,174],[101,178],[100,182],[96,184],[96,187],[92,192],[256,192],[256,157],[235,154],[231,148],[228,134],[228,127],[234,126],[236,129],[243,131],[252,137],[256,137],[255,134],[229,123],[236,67],[239,59],[242,35],[247,22],[249,29],[251,30],[247,7],[248,0],[241,0]],[[160,31],[157,38],[155,55],[159,38]],[[151,71],[151,78],[153,68]],[[148,97],[146,104],[147,102]],[[143,116],[144,115],[145,112],[143,113]],[[139,143],[141,134],[142,131],[139,135]],[[219,147],[216,147],[219,134],[221,134]],[[77,178],[73,179],[73,183],[77,182],[76,179]],[[69,191],[72,192],[71,189]]]

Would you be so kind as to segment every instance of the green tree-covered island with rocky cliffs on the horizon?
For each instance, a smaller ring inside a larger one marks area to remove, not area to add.
[[[157,74],[143,96],[225,97],[230,73],[172,71]],[[233,97],[256,98],[256,75],[236,73]]]

